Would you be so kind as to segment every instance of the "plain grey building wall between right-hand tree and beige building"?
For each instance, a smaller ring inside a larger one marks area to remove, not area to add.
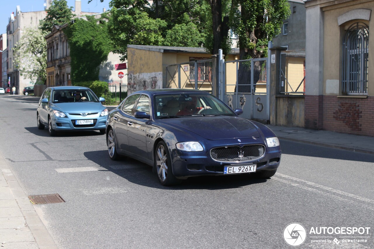
[[[288,3],[291,15],[283,21],[283,23],[288,22],[288,34],[283,35],[282,30],[278,36],[273,37],[273,46],[288,46],[288,50],[303,50],[305,49],[305,6],[304,3],[294,1],[288,1]]]

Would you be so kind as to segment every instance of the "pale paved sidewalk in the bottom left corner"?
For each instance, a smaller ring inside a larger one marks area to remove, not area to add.
[[[57,248],[2,155],[0,155],[0,248]]]

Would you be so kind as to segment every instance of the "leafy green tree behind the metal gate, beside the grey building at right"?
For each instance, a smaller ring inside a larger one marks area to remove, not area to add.
[[[267,44],[290,15],[288,0],[232,0],[230,25],[239,38],[240,59],[267,56]]]

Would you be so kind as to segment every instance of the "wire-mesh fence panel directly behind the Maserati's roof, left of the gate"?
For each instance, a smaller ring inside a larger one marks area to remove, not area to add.
[[[212,92],[212,60],[166,66],[166,88],[199,89]]]

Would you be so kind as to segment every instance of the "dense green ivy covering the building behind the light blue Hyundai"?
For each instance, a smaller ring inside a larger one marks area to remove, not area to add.
[[[64,33],[69,39],[72,83],[99,79],[99,66],[113,50],[108,39],[107,15],[74,19]]]

